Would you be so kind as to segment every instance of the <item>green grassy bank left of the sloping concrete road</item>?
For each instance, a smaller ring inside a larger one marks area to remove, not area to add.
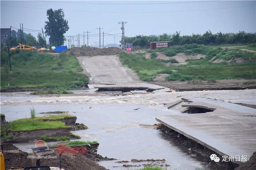
[[[7,52],[1,51],[1,90],[22,88],[63,88],[84,86],[89,79],[73,55],[52,55],[34,51],[10,51],[12,73]],[[8,86],[9,84],[9,86]]]

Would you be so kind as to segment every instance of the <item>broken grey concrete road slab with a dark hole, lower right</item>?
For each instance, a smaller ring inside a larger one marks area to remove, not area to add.
[[[249,160],[255,152],[254,108],[205,97],[182,99],[165,106],[177,112],[156,118],[158,122],[213,153]],[[235,164],[243,162],[231,161]]]

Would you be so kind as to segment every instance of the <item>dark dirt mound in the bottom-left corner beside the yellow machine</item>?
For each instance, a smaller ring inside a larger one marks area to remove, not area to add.
[[[1,145],[4,147],[5,169],[11,169],[11,167],[15,169],[25,168],[32,165],[32,159],[27,158],[26,152],[22,152],[11,143]]]

